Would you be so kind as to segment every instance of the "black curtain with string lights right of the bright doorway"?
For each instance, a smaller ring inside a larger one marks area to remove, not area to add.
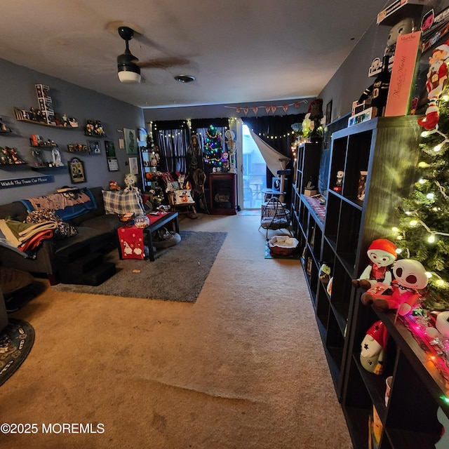
[[[291,114],[291,115],[274,115],[261,117],[242,117],[243,123],[252,129],[264,142],[276,149],[279,153],[291,158],[290,146],[293,142],[292,125],[293,123],[302,123],[305,114]],[[271,137],[274,137],[273,139]],[[287,168],[293,168],[293,164],[288,164]],[[286,187],[287,201],[290,199],[290,180],[288,177],[288,185]],[[273,175],[267,168],[267,185],[265,187],[271,189],[273,182]]]

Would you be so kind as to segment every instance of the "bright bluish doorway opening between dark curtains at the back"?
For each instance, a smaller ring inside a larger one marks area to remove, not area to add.
[[[262,189],[267,187],[267,164],[259,148],[251,137],[248,126],[243,121],[237,121],[239,145],[238,170],[239,204],[242,210],[254,210],[262,207]]]

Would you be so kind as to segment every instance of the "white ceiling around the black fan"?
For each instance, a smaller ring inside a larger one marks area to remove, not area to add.
[[[390,2],[387,2],[389,4]],[[15,0],[1,2],[0,58],[140,107],[233,105],[318,95],[384,0]],[[115,22],[115,23],[114,23]],[[185,58],[119,82],[125,41],[140,61]],[[196,77],[179,83],[177,74]]]

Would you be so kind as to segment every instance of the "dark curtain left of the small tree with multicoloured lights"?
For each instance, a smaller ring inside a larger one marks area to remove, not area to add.
[[[153,138],[161,154],[161,171],[187,171],[190,130],[186,121],[155,121]]]

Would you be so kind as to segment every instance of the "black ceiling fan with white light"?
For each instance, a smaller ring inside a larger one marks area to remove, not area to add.
[[[155,58],[147,61],[139,61],[129,49],[129,41],[133,39],[134,30],[130,27],[118,27],[119,36],[126,43],[125,53],[117,56],[117,69],[122,83],[140,83],[141,68],[167,69],[175,65],[185,65],[189,61],[183,58]]]

